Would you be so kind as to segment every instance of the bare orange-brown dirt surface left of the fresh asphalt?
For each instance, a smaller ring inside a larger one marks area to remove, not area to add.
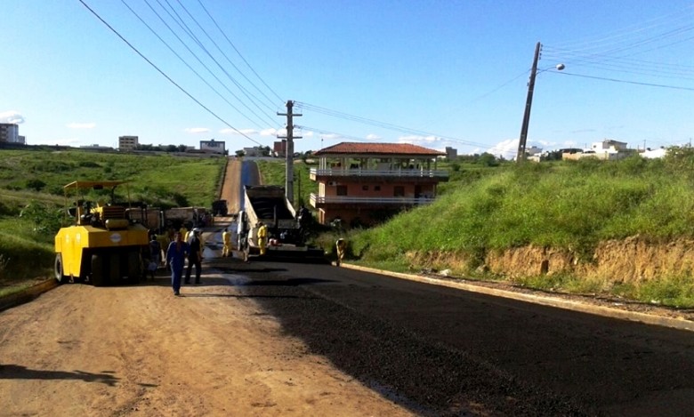
[[[63,285],[0,314],[0,415],[408,415],[222,277]]]

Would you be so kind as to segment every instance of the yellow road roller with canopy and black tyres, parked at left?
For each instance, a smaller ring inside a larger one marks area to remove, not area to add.
[[[74,224],[55,236],[55,279],[77,279],[93,285],[137,283],[142,276],[141,251],[149,243],[148,231],[126,216],[127,204],[113,201],[116,187],[125,181],[75,181],[63,189],[66,203],[75,196],[68,214]],[[110,189],[110,202],[85,201],[90,189]]]

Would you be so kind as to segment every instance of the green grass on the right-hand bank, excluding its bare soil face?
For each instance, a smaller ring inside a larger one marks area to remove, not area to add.
[[[451,171],[451,180],[440,185],[434,204],[401,213],[373,229],[340,234],[348,237],[352,262],[375,268],[431,268],[413,263],[411,254],[435,253],[439,260],[464,259],[462,266],[439,264],[458,276],[512,279],[553,291],[607,292],[692,307],[691,274],[625,284],[610,283],[612,277],[585,280],[566,274],[485,277],[478,269],[490,251],[527,245],[571,251],[580,261],[590,262],[596,246],[611,239],[639,236],[667,243],[694,238],[694,150],[677,150],[665,160],[461,164],[461,169]],[[267,170],[268,166],[261,166],[263,175]],[[330,251],[337,235],[327,233],[319,242]]]

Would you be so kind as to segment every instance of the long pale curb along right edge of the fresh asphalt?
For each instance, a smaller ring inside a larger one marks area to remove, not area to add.
[[[619,318],[622,320],[629,320],[637,323],[643,323],[646,325],[659,325],[663,327],[670,327],[678,330],[687,330],[690,332],[694,332],[694,322],[685,320],[683,318],[659,317],[651,314],[639,313],[636,311],[611,309],[609,307],[595,306],[592,304],[585,304],[577,301],[562,300],[558,298],[547,297],[544,295],[514,293],[512,291],[498,290],[496,288],[488,288],[486,286],[456,283],[443,279],[437,279],[432,277],[420,277],[411,274],[403,274],[400,272],[386,271],[383,269],[360,267],[357,265],[351,265],[346,263],[340,265],[340,268],[356,269],[364,272],[371,272],[374,274],[389,277],[408,279],[410,281],[416,281],[424,284],[448,286],[450,288],[456,288],[458,290],[463,290],[470,293],[482,293],[487,295],[493,295],[496,297],[504,297],[516,301],[532,302],[544,306],[555,307],[557,309],[568,309],[572,311],[578,311],[581,313],[593,314],[594,316]]]

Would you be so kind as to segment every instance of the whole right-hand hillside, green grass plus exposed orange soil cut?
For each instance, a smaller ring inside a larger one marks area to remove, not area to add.
[[[450,180],[434,204],[319,242],[331,250],[346,236],[351,261],[383,269],[691,307],[694,150],[671,150],[663,160],[443,164]],[[283,166],[262,174],[282,183]]]

